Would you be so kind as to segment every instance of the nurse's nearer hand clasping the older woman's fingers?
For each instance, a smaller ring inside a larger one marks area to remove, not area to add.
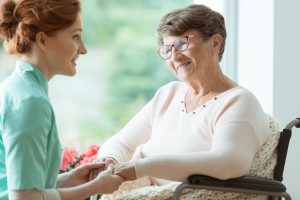
[[[109,194],[116,191],[123,183],[121,176],[113,174],[113,166],[109,165],[106,170],[100,172],[95,179],[98,182],[99,193]]]

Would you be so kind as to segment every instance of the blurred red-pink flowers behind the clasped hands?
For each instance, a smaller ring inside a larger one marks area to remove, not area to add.
[[[93,162],[97,158],[99,149],[99,145],[90,145],[81,154],[78,154],[74,148],[63,148],[60,173],[68,172],[80,165]]]

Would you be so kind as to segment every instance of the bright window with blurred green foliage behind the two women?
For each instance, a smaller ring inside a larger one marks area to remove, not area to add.
[[[122,128],[160,86],[175,80],[157,54],[155,31],[164,14],[192,3],[204,3],[225,13],[225,19],[229,16],[225,9],[227,1],[222,0],[89,0],[81,3],[88,54],[78,60],[75,77],[56,76],[49,83],[62,145],[78,149],[103,143]],[[230,34],[232,26],[228,19],[226,23],[229,37],[222,66],[234,79],[235,65],[230,63],[234,63],[235,54],[228,48],[234,35]],[[0,51],[0,81],[13,71],[14,61]]]

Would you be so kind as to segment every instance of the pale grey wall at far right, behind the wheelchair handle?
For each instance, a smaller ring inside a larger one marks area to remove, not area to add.
[[[275,0],[273,112],[281,122],[300,117],[300,1]],[[300,199],[300,131],[294,132],[286,166],[286,183]]]

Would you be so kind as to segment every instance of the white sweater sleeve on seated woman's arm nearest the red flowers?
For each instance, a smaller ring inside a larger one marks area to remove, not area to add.
[[[145,143],[151,136],[151,105],[152,101],[146,104],[121,131],[107,140],[97,157],[112,157],[118,163],[129,161],[137,146]]]

